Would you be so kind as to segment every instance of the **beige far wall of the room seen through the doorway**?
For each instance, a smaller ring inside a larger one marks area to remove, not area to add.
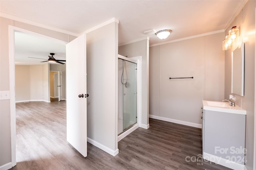
[[[15,87],[16,102],[50,101],[48,64],[16,65]]]

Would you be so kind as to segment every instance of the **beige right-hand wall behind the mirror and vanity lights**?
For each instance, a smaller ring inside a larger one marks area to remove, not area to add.
[[[254,162],[254,113],[255,113],[255,8],[256,1],[249,0],[242,11],[236,16],[235,20],[230,24],[228,30],[232,26],[240,27],[241,36],[245,42],[244,51],[244,97],[235,95],[236,105],[246,110],[246,168],[253,169]],[[226,30],[226,34],[228,34]],[[223,38],[224,39],[224,38]],[[231,94],[231,52],[235,47],[225,51],[225,98]]]

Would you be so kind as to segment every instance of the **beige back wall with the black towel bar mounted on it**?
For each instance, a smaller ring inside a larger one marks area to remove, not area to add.
[[[150,117],[201,127],[202,100],[224,99],[223,36],[218,33],[150,47]]]

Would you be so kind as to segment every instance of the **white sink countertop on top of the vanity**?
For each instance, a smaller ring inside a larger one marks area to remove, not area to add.
[[[246,115],[246,111],[239,106],[230,106],[228,102],[205,101],[203,100],[203,109],[209,111],[218,111],[226,113],[236,113]]]

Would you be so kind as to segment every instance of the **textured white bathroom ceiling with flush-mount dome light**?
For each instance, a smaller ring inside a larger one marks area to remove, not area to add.
[[[111,18],[118,42],[150,38],[150,45],[223,30],[246,0],[0,0],[1,14],[80,34]],[[171,29],[166,40],[144,31]]]

